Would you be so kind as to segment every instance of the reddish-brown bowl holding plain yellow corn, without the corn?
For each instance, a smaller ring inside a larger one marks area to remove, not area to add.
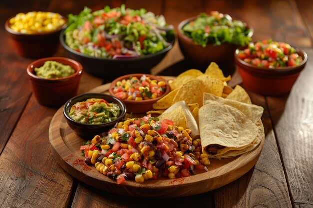
[[[59,35],[62,29],[66,27],[66,23],[51,32],[24,34],[9,27],[11,18],[6,20],[5,29],[19,55],[29,58],[43,58],[55,54],[59,47]],[[65,17],[62,16],[62,18],[67,22]]]

